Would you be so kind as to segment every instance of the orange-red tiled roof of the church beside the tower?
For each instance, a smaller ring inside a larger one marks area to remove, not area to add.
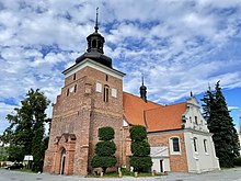
[[[148,132],[177,129],[182,127],[182,115],[186,103],[160,105],[151,101],[123,93],[124,116],[131,125],[145,125]]]

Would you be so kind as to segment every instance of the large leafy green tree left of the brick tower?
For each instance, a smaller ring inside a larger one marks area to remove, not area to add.
[[[49,100],[38,89],[31,89],[21,106],[14,109],[14,114],[8,114],[10,126],[3,133],[4,143],[9,143],[9,159],[22,161],[24,155],[33,155],[34,171],[43,170],[44,151],[44,124],[49,122],[45,111]]]

